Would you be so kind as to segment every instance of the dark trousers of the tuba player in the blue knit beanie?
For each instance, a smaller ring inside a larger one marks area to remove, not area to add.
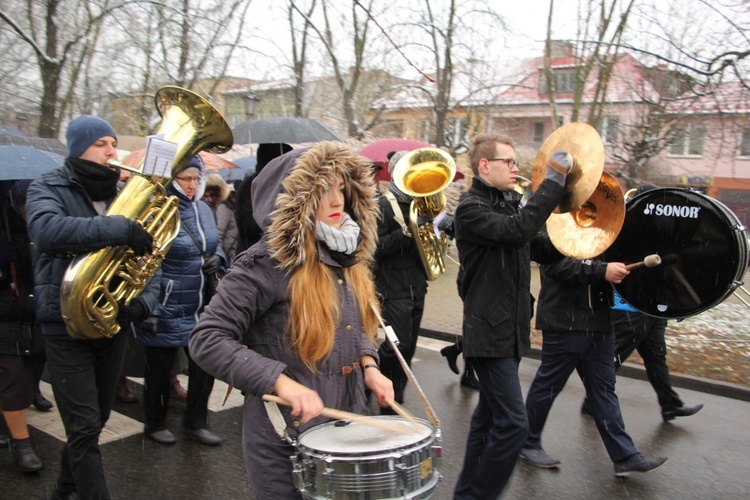
[[[58,491],[76,491],[85,499],[107,499],[99,434],[112,410],[127,336],[76,340],[50,335],[45,340],[52,390],[68,437]]]

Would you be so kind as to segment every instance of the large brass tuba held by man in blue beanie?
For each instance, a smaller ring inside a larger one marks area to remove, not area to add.
[[[135,169],[129,169],[133,175],[106,213],[141,224],[153,237],[154,250],[137,257],[127,245],[108,247],[78,255],[71,262],[63,276],[60,308],[74,338],[109,338],[120,331],[118,302],[129,304],[143,292],[180,230],[179,202],[177,197],[167,196],[164,186],[199,151],[224,153],[234,142],[221,113],[199,95],[165,86],[154,100],[162,117],[157,135],[177,144],[170,177],[140,175],[144,155]]]

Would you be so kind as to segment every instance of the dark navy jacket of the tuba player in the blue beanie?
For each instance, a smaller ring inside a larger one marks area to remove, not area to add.
[[[67,160],[29,186],[26,214],[39,254],[34,266],[36,319],[44,335],[65,335],[60,287],[68,265],[79,253],[127,245],[132,222],[122,215],[99,215],[86,191],[73,180]],[[159,282],[152,279],[136,300],[150,311],[158,295]]]

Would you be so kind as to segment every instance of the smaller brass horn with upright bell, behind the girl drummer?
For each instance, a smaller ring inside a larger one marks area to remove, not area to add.
[[[406,153],[393,167],[391,181],[403,193],[414,197],[409,207],[409,232],[417,245],[427,279],[445,272],[448,235],[435,234],[432,219],[445,208],[445,194],[456,175],[456,162],[437,148],[420,148]]]

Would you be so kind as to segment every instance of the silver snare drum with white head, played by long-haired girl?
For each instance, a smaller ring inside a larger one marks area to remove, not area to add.
[[[328,422],[302,433],[292,457],[304,498],[429,498],[438,484],[439,433],[416,419],[375,416],[404,429],[396,433],[363,422]],[[342,425],[345,424],[345,425]]]

